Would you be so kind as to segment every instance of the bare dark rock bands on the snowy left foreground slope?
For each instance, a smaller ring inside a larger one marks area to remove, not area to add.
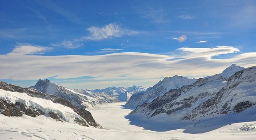
[[[45,94],[36,89],[22,88],[20,86],[14,86],[14,85],[8,84],[6,82],[0,82],[0,89],[3,89],[5,91],[26,93],[28,96],[52,100],[53,103],[59,103],[59,104],[62,104],[64,106],[67,106],[67,107],[70,107],[71,109],[73,109],[74,112],[76,112],[78,115],[83,117],[83,119],[85,119],[85,121],[87,121],[90,126],[101,128],[101,126],[95,122],[95,120],[92,117],[92,114],[89,111],[87,111],[83,108],[77,107],[75,105],[72,105],[66,99],[60,98],[55,95],[48,95],[48,94]],[[1,100],[1,99],[0,99],[0,112],[2,114],[4,114],[5,116],[9,116],[9,117],[10,116],[19,117],[22,114],[26,114],[31,117],[36,117],[41,114],[45,115],[45,112],[42,112],[40,109],[33,108],[33,107],[27,107],[23,103],[18,103],[18,102],[13,104],[7,100]],[[56,118],[59,121],[63,121],[61,119],[62,118],[61,115],[56,114],[55,112],[50,112],[50,114],[48,114],[48,115],[50,115],[50,117],[52,117],[53,119]]]

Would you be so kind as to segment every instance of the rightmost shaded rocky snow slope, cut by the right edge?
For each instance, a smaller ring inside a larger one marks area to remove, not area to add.
[[[239,113],[247,108],[254,108],[251,114],[256,113],[256,66],[236,72],[216,96],[194,108],[183,119]]]

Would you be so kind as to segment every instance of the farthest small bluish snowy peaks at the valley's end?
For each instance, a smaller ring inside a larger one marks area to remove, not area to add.
[[[121,102],[126,102],[129,100],[130,96],[136,93],[140,93],[142,91],[145,91],[147,88],[144,86],[132,86],[132,87],[109,87],[106,89],[95,89],[95,90],[90,90],[91,92],[94,93],[109,93],[116,98],[118,98]]]

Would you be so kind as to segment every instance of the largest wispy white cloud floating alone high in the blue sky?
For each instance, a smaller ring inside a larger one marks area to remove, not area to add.
[[[135,35],[138,31],[123,29],[117,24],[110,23],[103,27],[90,27],[90,35],[83,37],[83,40],[103,40],[113,37],[122,37],[124,35]]]

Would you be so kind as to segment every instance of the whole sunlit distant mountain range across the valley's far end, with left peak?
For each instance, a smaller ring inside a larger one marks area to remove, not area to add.
[[[69,100],[73,105],[84,108],[92,108],[95,105],[103,103],[126,102],[127,98],[134,93],[145,91],[143,86],[110,87],[107,89],[83,90],[83,89],[68,89],[58,84],[50,82],[48,79],[39,79],[36,85],[30,88],[37,89],[43,93],[56,95]]]

